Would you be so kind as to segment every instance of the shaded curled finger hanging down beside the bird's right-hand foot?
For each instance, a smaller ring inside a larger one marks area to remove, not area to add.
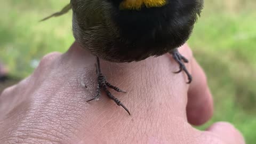
[[[213,113],[213,101],[206,76],[195,59],[190,60],[193,81],[188,90],[187,118],[193,125],[208,121]]]

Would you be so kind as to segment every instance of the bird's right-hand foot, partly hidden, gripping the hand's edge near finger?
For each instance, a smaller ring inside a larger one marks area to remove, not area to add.
[[[170,54],[172,54],[173,59],[180,65],[180,70],[176,71],[174,73],[178,74],[183,70],[186,73],[186,75],[188,76],[187,83],[190,84],[192,82],[192,76],[189,74],[186,66],[184,65],[184,63],[188,63],[188,59],[183,57],[183,55],[181,55],[177,49],[170,52]]]

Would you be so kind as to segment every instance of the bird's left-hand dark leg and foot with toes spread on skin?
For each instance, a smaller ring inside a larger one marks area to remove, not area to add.
[[[126,93],[126,92],[123,91],[123,90],[121,90],[121,89],[119,89],[118,87],[116,87],[116,86],[114,86],[114,85],[111,85],[109,82],[106,81],[105,76],[101,73],[101,70],[100,70],[100,61],[99,61],[99,58],[98,58],[98,57],[97,57],[97,65],[96,65],[96,66],[97,66],[96,72],[97,72],[97,75],[98,75],[97,91],[96,91],[95,97],[93,97],[93,98],[90,99],[90,100],[87,100],[87,102],[92,101],[92,100],[95,100],[95,99],[98,99],[98,98],[101,96],[101,95],[100,95],[101,90],[103,90],[103,91],[106,92],[106,94],[107,94],[107,96],[108,96],[109,99],[115,101],[118,106],[123,107],[123,108],[127,111],[127,113],[128,113],[129,115],[131,115],[130,111],[123,105],[123,103],[122,103],[119,99],[117,99],[116,97],[114,97],[114,95],[112,95],[112,94],[108,91],[108,88],[107,88],[107,87],[109,87],[110,89],[113,89],[113,90],[115,90],[115,91],[117,91],[117,92],[123,92],[123,93]]]

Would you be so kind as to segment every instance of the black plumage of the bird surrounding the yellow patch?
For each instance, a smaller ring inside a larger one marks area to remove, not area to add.
[[[119,29],[122,42],[129,47],[118,52],[127,55],[127,58],[122,57],[123,61],[139,61],[153,55],[162,55],[184,44],[203,7],[203,0],[166,0],[163,6],[155,7],[149,7],[149,2],[165,0],[109,1],[115,5],[111,19]],[[143,3],[140,5],[135,2]],[[122,4],[127,9],[121,9]],[[124,45],[121,43],[117,47]]]

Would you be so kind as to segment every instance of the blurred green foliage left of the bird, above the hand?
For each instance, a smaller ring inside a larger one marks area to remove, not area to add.
[[[3,0],[0,0],[3,1]],[[25,77],[33,71],[31,60],[40,60],[52,51],[65,52],[74,42],[71,12],[39,22],[59,11],[69,1],[4,1],[0,19],[0,60],[12,75]]]

